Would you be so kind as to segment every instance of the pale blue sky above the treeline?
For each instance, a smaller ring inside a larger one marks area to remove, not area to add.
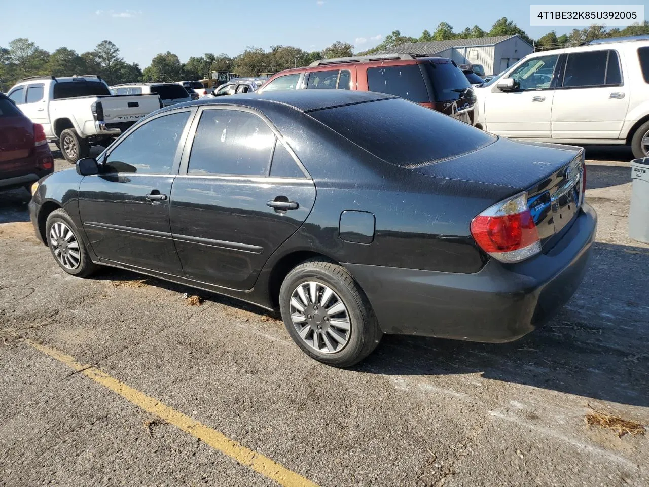
[[[552,30],[530,27],[530,3],[513,0],[131,0],[101,4],[32,0],[5,3],[2,16],[2,47],[14,38],[27,37],[47,51],[65,46],[80,54],[108,39],[127,62],[138,62],[141,68],[165,51],[177,54],[182,62],[206,52],[238,55],[248,45],[264,49],[295,45],[314,51],[341,40],[361,51],[394,30],[419,36],[424,29],[433,32],[441,21],[450,23],[456,32],[475,24],[488,31],[506,16],[533,38]],[[554,30],[562,34],[570,28]]]

